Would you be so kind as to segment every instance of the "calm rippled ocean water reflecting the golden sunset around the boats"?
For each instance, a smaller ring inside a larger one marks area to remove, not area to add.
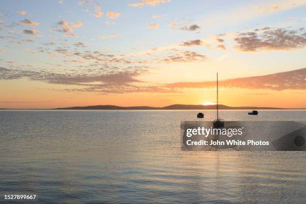
[[[180,151],[180,120],[197,112],[2,110],[0,202],[27,192],[45,203],[305,203],[304,151]],[[306,111],[220,116],[299,121]]]

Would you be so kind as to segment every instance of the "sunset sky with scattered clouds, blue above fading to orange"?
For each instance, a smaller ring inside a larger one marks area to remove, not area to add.
[[[306,0],[7,0],[0,108],[306,107]]]

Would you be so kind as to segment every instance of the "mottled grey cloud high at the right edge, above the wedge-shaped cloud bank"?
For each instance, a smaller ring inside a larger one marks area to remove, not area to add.
[[[238,33],[234,38],[240,51],[287,50],[306,46],[304,28],[289,30],[286,28],[263,27],[249,32]]]

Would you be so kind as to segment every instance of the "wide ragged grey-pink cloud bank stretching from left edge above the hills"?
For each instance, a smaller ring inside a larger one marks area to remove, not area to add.
[[[65,91],[128,93],[128,92],[173,92],[171,88],[147,84],[135,77],[147,73],[147,67],[133,66],[127,69],[92,73],[56,73],[0,67],[0,79],[20,79],[43,81],[52,84],[77,85],[79,88],[66,88]]]

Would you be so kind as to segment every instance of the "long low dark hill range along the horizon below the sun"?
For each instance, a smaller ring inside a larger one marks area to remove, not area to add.
[[[54,109],[60,110],[193,110],[193,109],[216,109],[216,105],[183,105],[173,104],[164,107],[151,107],[151,106],[117,106],[117,105],[89,105],[89,106],[74,106],[74,107],[59,107]],[[290,109],[290,108],[279,108],[279,107],[232,107],[227,105],[219,105],[219,109]]]

